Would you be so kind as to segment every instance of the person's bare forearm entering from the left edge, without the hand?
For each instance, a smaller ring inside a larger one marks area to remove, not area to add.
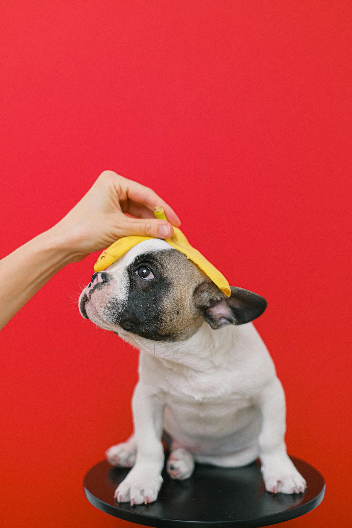
[[[78,260],[58,228],[0,260],[0,329],[64,266]]]

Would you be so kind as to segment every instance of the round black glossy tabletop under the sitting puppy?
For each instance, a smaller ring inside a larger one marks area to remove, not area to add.
[[[310,512],[325,492],[324,478],[299,458],[291,457],[307,480],[305,493],[277,495],[265,491],[258,460],[241,468],[197,464],[191,478],[172,480],[164,468],[164,483],[156,502],[118,504],[113,493],[128,469],[104,460],[84,477],[88,501],[103,512],[132,523],[159,528],[254,528],[288,521]]]

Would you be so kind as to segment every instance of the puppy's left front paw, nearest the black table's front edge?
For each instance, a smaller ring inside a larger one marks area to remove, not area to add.
[[[117,502],[134,504],[148,504],[156,501],[163,478],[160,474],[151,474],[149,471],[135,472],[133,469],[125,480],[116,488],[114,497]]]

